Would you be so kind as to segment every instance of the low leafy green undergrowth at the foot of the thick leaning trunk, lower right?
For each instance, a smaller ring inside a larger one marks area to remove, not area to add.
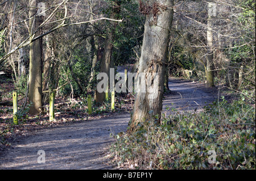
[[[174,111],[160,125],[120,135],[110,152],[126,169],[255,169],[255,104],[244,98]]]

